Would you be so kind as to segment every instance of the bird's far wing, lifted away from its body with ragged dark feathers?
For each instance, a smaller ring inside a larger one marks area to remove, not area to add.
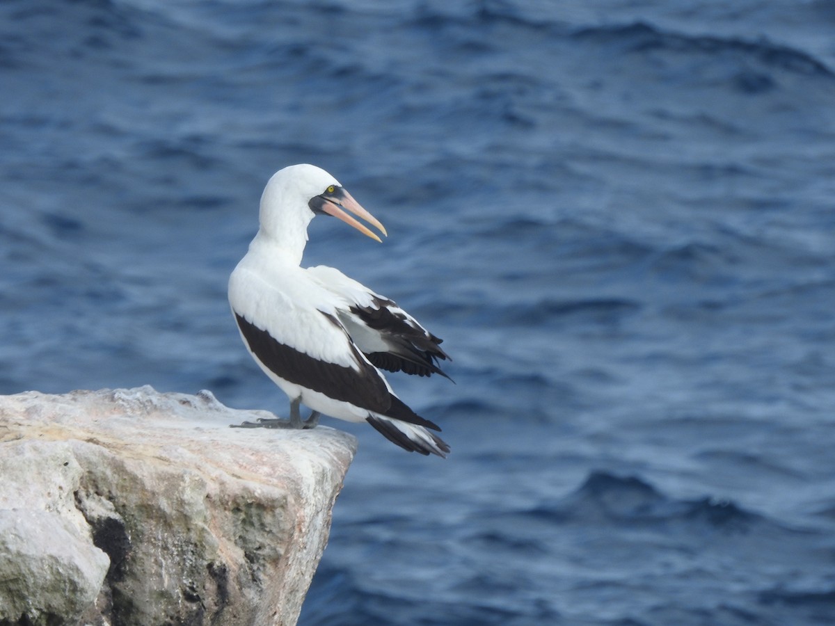
[[[439,346],[443,340],[418,324],[396,302],[332,267],[317,265],[307,273],[337,296],[339,321],[374,366],[417,376],[449,377],[438,367],[439,360],[449,359]]]

